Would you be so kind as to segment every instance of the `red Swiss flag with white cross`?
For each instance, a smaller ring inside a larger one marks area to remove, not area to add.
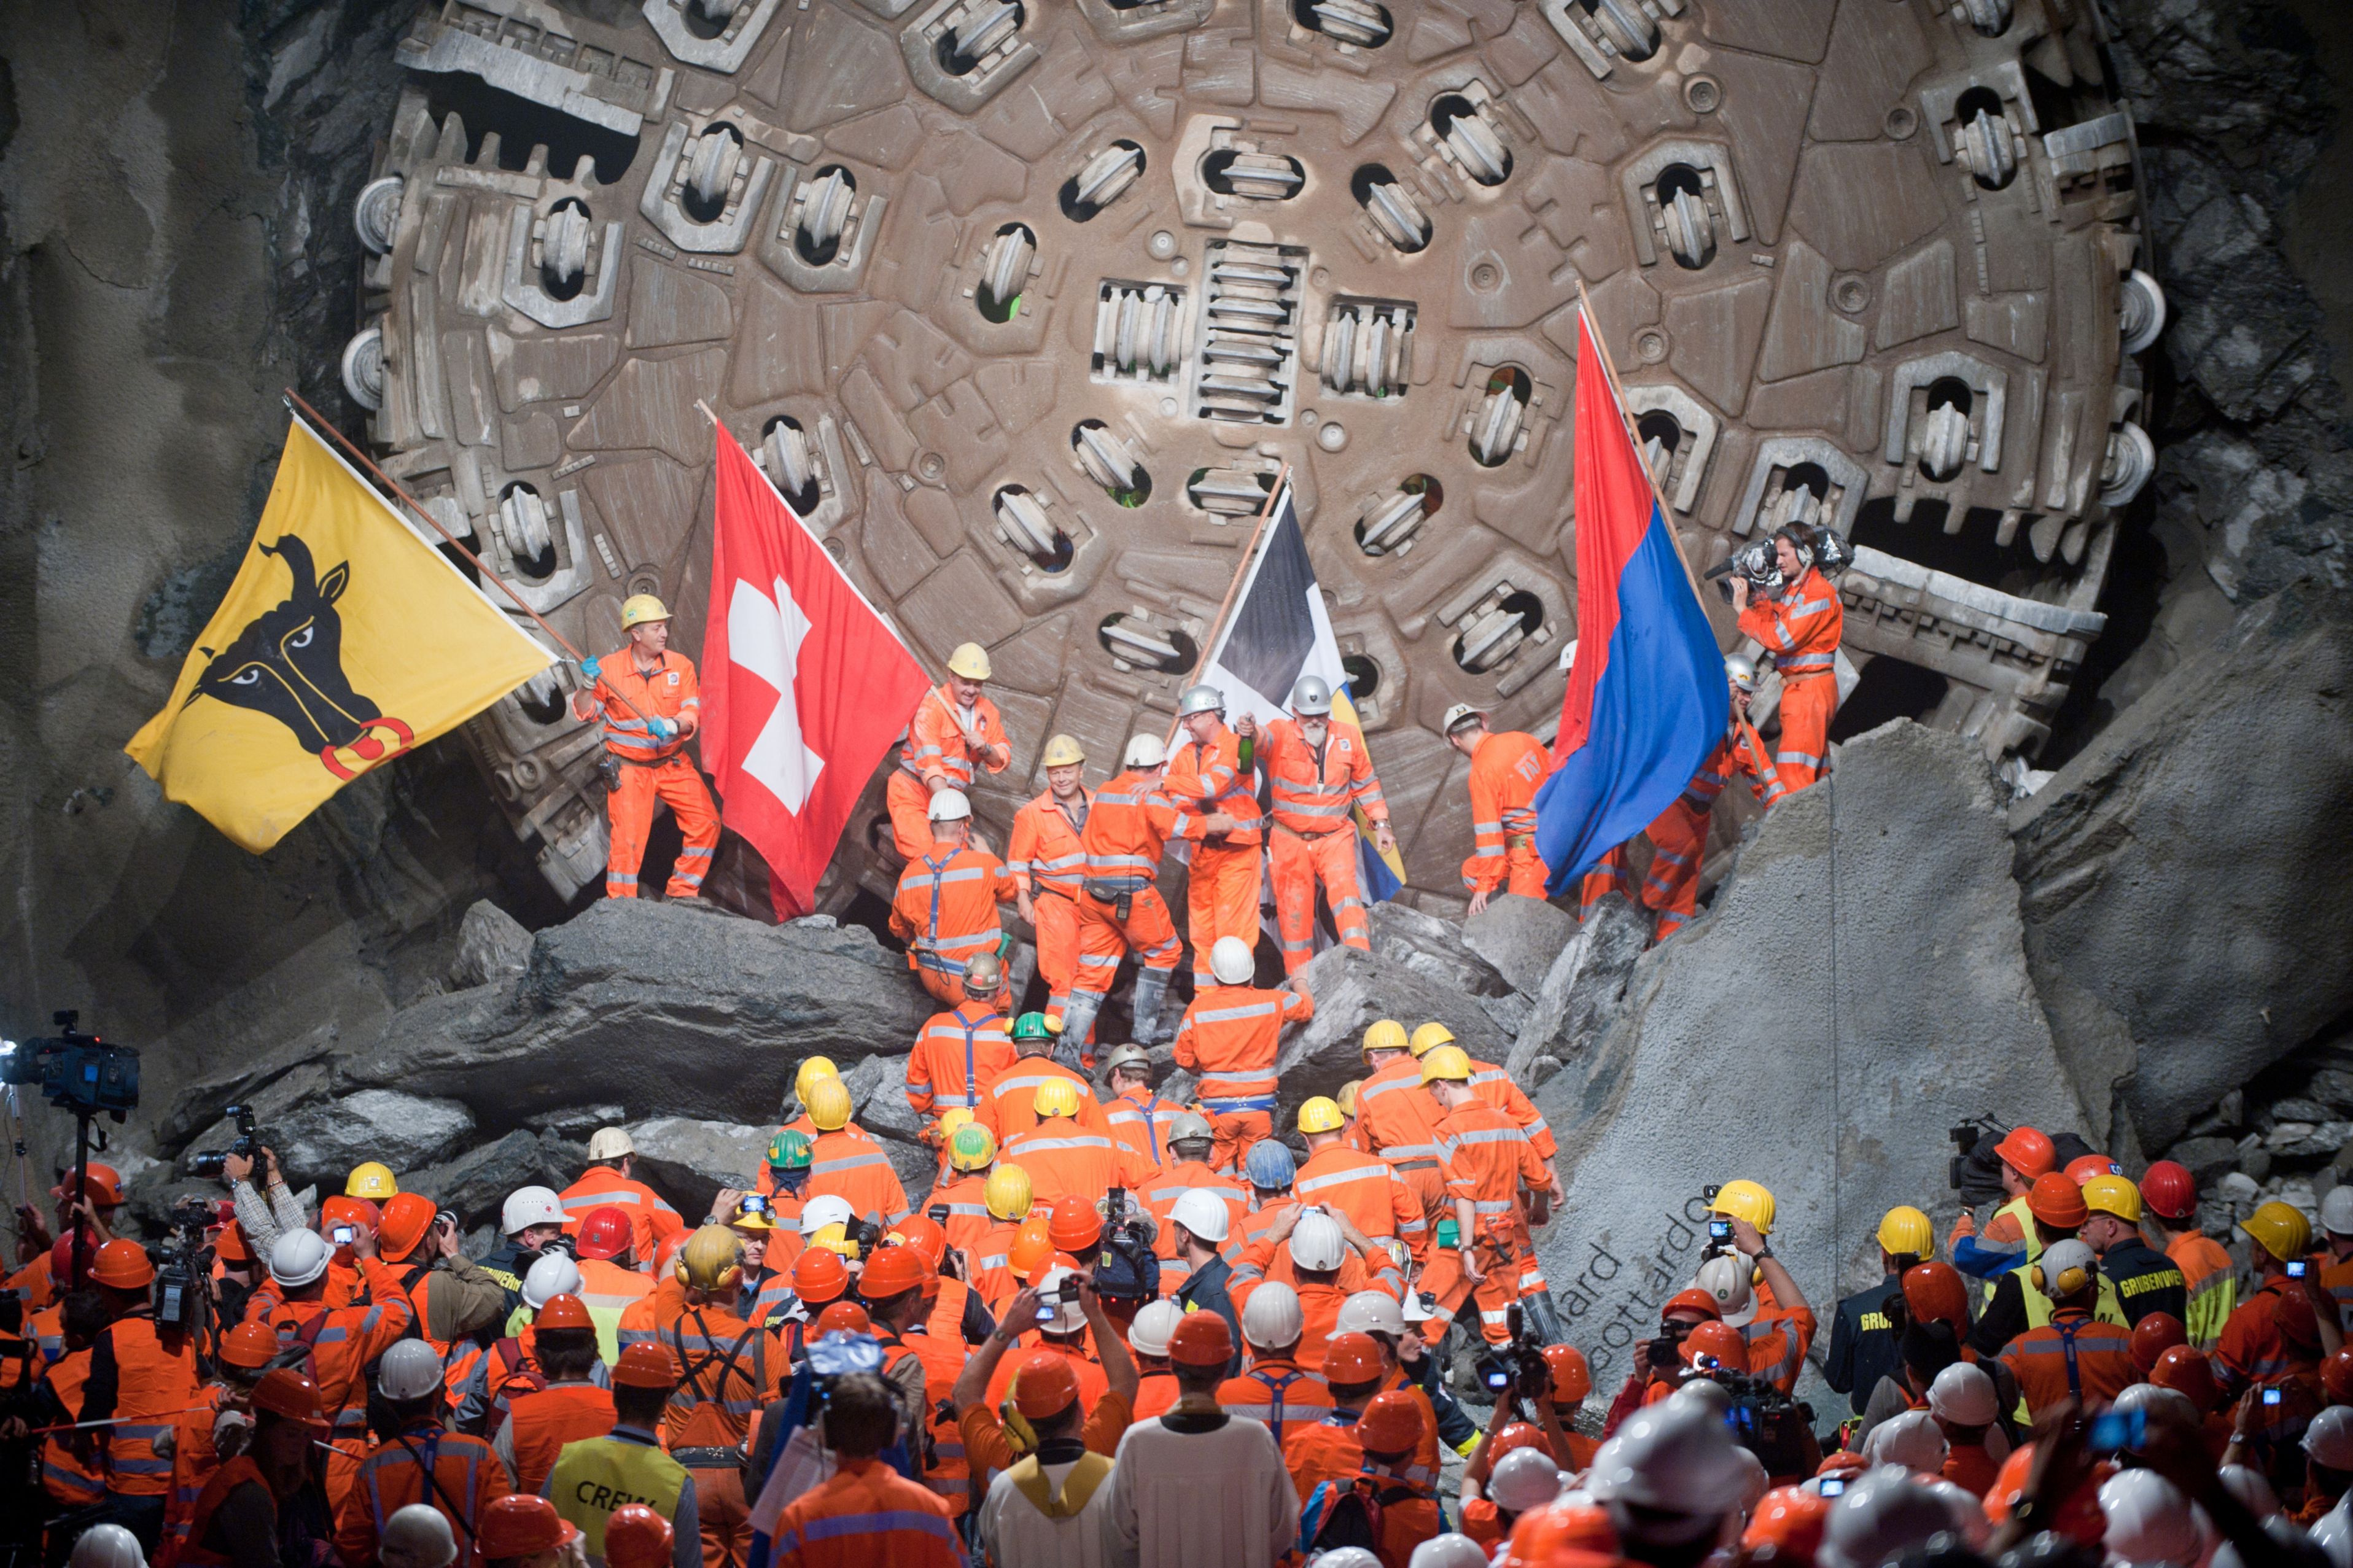
[[[704,765],[788,921],[932,680],[725,428],[718,452]]]

